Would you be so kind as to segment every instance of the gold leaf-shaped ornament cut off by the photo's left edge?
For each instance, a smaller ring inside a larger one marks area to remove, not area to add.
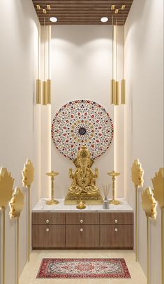
[[[0,171],[0,208],[6,208],[8,201],[12,198],[14,178],[6,168]]]

